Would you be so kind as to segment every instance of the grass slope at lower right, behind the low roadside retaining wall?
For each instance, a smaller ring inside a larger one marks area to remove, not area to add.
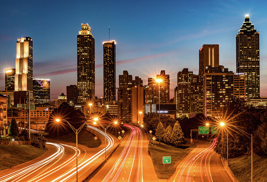
[[[239,182],[251,181],[251,156],[230,159],[228,163]],[[253,181],[267,181],[267,157],[253,156]]]

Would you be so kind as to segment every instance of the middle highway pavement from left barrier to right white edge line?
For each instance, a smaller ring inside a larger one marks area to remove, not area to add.
[[[136,126],[128,124],[124,124],[124,126],[130,132],[127,132],[115,154],[90,182],[144,181],[142,170],[142,132]]]

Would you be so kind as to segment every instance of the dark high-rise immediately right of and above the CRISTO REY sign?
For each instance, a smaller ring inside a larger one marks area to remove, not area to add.
[[[177,73],[177,114],[185,115],[190,113],[190,78],[193,71],[184,68]]]

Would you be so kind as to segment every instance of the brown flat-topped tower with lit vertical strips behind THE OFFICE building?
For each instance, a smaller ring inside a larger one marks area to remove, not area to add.
[[[204,44],[199,49],[199,71],[204,74],[207,66],[219,66],[219,44]]]

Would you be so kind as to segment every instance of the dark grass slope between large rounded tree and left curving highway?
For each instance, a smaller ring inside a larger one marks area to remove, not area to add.
[[[62,135],[60,137],[48,136],[48,138],[61,140],[64,142],[76,143],[76,134],[74,132],[70,134]],[[101,140],[97,139],[95,141],[94,138],[95,138],[95,135],[93,135],[89,131],[81,130],[80,133],[78,133],[78,144],[84,145],[89,148],[94,148],[94,147],[98,147],[99,145],[101,145]]]

